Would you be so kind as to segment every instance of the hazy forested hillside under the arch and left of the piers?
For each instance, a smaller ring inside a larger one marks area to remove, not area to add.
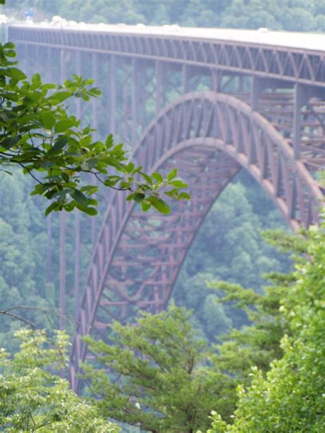
[[[59,230],[58,216],[51,218],[51,282],[47,273],[47,220],[45,203],[28,197],[32,180],[15,173],[0,175],[0,296],[1,307],[57,309],[59,307]],[[73,293],[74,219],[68,219],[67,293]],[[195,327],[208,341],[215,341],[229,327],[246,322],[245,314],[217,302],[215,292],[206,287],[211,280],[241,283],[258,290],[265,284],[262,274],[287,271],[289,259],[261,238],[261,230],[284,227],[272,202],[252,178],[241,173],[226,188],[209,212],[184,262],[171,302],[195,311]],[[69,226],[68,226],[69,227]],[[80,251],[81,277],[86,273],[91,244],[84,227]],[[67,314],[74,317],[73,297],[67,298]],[[42,310],[16,310],[37,326],[58,327],[58,317]],[[12,338],[21,323],[0,317],[0,346],[16,349]],[[67,321],[69,329],[69,321]]]

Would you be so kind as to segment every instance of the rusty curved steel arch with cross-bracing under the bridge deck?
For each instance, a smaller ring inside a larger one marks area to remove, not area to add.
[[[171,295],[195,233],[223,188],[243,167],[295,230],[317,221],[322,191],[287,140],[248,104],[217,92],[183,95],[150,123],[134,151],[145,171],[178,166],[193,199],[170,216],[143,214],[112,197],[88,269],[71,352],[71,385],[86,356],[82,336],[140,308],[157,312]],[[141,278],[139,278],[141,275]]]

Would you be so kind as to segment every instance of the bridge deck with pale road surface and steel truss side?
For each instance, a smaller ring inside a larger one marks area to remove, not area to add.
[[[325,80],[324,34],[82,23],[11,25],[9,38],[39,47],[132,55],[321,86]]]

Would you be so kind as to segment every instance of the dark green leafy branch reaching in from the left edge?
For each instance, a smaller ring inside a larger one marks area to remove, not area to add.
[[[128,161],[123,144],[116,145],[112,135],[104,142],[95,140],[94,129],[82,127],[80,119],[68,114],[69,99],[88,101],[100,95],[91,87],[93,79],[73,75],[60,86],[44,84],[36,73],[29,82],[12,61],[15,56],[12,43],[0,45],[0,170],[12,174],[10,167],[19,166],[32,176],[32,195],[51,200],[46,214],[74,208],[96,214],[93,195],[98,184],[130,191],[127,199],[141,202],[144,211],[153,206],[169,213],[163,195],[190,198],[181,192],[187,185],[176,179],[177,169],[165,179],[160,173],[143,173],[141,166]],[[82,182],[88,173],[94,184]]]

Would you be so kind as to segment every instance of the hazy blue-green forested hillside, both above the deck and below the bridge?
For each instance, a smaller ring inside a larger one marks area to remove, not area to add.
[[[23,12],[32,7],[37,18],[50,18],[53,14],[60,14],[75,20],[112,23],[178,22],[182,25],[227,25],[252,28],[267,25],[274,29],[290,29],[282,22],[285,14],[279,12],[280,2],[273,1],[266,6],[262,3],[258,0],[245,2],[101,0],[95,4],[93,1],[80,2],[79,0],[51,2],[13,0],[10,2],[10,7],[16,8],[17,16],[19,14],[23,16]],[[306,3],[287,1],[286,4],[291,12],[295,10],[301,14],[313,12],[315,16],[322,12],[320,3],[316,5],[313,1],[309,2],[308,11]],[[262,5],[265,6],[265,10]],[[270,20],[272,17],[274,26],[272,27],[266,21],[262,23],[254,16],[258,19],[267,16],[265,20]],[[246,21],[240,21],[244,18]],[[293,21],[297,22],[296,19]],[[31,182],[30,179],[21,175],[10,177],[2,174],[1,179],[2,177],[0,199],[3,206],[0,209],[0,230],[3,231],[3,236],[0,247],[0,275],[3,279],[1,284],[3,307],[22,304],[27,307],[58,308],[58,218],[52,218],[51,275],[49,275],[45,260],[48,238],[47,222],[43,218],[43,205],[36,200],[27,199],[29,189],[27,186]],[[14,197],[14,203],[11,197]],[[69,219],[68,224],[73,224],[72,218]],[[195,325],[208,341],[214,341],[217,334],[224,333],[231,326],[238,327],[245,323],[245,315],[232,310],[228,304],[221,306],[217,302],[217,295],[206,288],[206,281],[226,280],[258,290],[264,284],[263,273],[271,270],[287,271],[289,260],[267,245],[260,233],[265,228],[280,225],[284,225],[280,214],[274,210],[273,204],[267,199],[263,190],[245,173],[237,176],[236,180],[226,188],[206,217],[184,262],[171,301],[178,306],[195,310]],[[84,234],[86,231],[84,228]],[[83,238],[82,275],[86,273],[91,253],[89,239],[89,236]],[[67,293],[69,294],[73,293],[74,285],[73,230],[67,232],[66,251]],[[21,278],[23,283],[19,284]],[[74,316],[71,296],[67,299],[67,312]],[[44,320],[44,314],[38,310],[24,310],[23,314],[36,325]],[[58,326],[57,318],[53,317],[52,320],[53,324]],[[1,321],[1,331],[4,334],[1,334],[2,337],[0,335],[0,341],[1,345],[5,345],[5,341],[12,341],[7,333],[12,335],[11,328],[16,327],[16,324],[10,323],[5,318]]]

